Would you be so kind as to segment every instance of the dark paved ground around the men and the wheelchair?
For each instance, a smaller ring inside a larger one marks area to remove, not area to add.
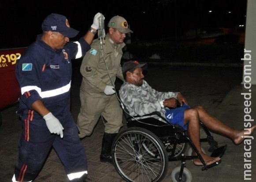
[[[241,93],[248,93],[243,89],[242,68],[220,67],[186,67],[186,66],[151,66],[145,72],[145,80],[160,91],[179,91],[186,96],[191,106],[201,105],[209,113],[234,128],[244,128],[244,97]],[[79,87],[81,75],[79,67],[74,67],[71,88],[71,111],[76,121],[80,108]],[[252,86],[252,119],[256,118],[256,86]],[[21,126],[15,111],[18,104],[2,111],[3,124],[0,126],[0,182],[11,182],[14,166],[18,157],[17,142],[21,133]],[[256,123],[252,121],[252,123]],[[126,123],[123,120],[123,129]],[[101,163],[99,160],[101,140],[104,125],[100,120],[93,134],[82,140],[87,153],[89,178],[92,182],[124,182],[115,171],[113,165]],[[202,134],[203,136],[204,134]],[[229,139],[213,134],[219,145],[227,144],[227,150],[222,163],[208,171],[201,171],[201,167],[194,166],[187,161],[186,167],[192,173],[193,182],[241,182],[244,180],[244,144],[235,146]],[[255,134],[254,134],[255,136]],[[256,137],[256,136],[255,136]],[[256,150],[256,143],[252,140],[252,149]],[[202,145],[207,151],[207,146]],[[249,147],[249,146],[248,146]],[[249,158],[247,158],[249,159]],[[252,152],[252,181],[256,179],[256,154]],[[163,182],[171,182],[171,171],[180,165],[180,161],[169,162],[169,171]],[[45,165],[34,182],[68,182],[63,165],[56,152],[52,150]]]

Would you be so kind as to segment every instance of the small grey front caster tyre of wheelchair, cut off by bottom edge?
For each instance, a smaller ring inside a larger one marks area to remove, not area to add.
[[[181,167],[176,167],[174,170],[171,171],[171,180],[172,182],[192,182],[192,174],[187,169],[183,169],[182,173],[182,179],[179,181],[179,173],[180,173]]]

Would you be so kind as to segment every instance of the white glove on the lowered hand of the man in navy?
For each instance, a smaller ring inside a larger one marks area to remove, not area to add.
[[[56,133],[57,135],[60,135],[61,138],[63,138],[63,126],[60,124],[59,120],[52,115],[51,112],[46,114],[44,117],[46,125],[51,133]]]

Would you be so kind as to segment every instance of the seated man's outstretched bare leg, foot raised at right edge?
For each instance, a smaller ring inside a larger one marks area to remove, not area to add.
[[[197,106],[194,108],[197,109],[199,113],[200,121],[204,123],[204,125],[209,130],[228,137],[236,145],[239,145],[245,139],[242,136],[251,136],[256,129],[256,125],[248,129],[240,130],[230,128],[227,125],[223,124],[221,121],[219,121],[217,118],[208,114],[203,107]]]

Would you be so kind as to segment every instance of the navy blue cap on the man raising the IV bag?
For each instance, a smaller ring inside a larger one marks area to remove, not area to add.
[[[70,28],[67,18],[61,14],[52,13],[42,23],[43,31],[59,32],[63,36],[73,38],[78,35],[78,30]]]

